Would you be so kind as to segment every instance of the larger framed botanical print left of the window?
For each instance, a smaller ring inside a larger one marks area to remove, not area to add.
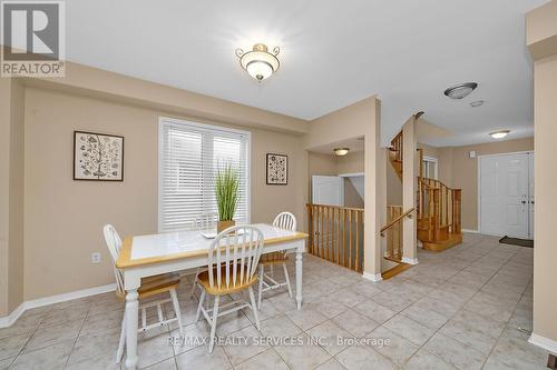
[[[124,138],[74,131],[74,180],[123,181]]]

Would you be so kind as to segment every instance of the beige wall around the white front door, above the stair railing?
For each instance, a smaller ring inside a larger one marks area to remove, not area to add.
[[[439,151],[440,179],[446,180],[446,166],[452,169],[452,181],[443,181],[447,186],[462,189],[462,228],[478,229],[478,158],[469,158],[470,151],[476,156],[510,153],[534,150],[534,138],[496,141],[490,143],[443,148]],[[451,184],[449,184],[451,183]]]

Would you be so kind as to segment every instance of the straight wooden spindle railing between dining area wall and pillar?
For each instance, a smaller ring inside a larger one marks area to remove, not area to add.
[[[350,270],[363,271],[363,209],[306,204],[309,252]]]

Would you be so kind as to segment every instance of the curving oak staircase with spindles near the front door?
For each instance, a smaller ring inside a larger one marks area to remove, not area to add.
[[[391,141],[389,160],[402,180],[402,131]],[[462,242],[461,189],[447,187],[439,180],[422,177],[423,153],[418,177],[417,226],[423,249],[442,251]]]

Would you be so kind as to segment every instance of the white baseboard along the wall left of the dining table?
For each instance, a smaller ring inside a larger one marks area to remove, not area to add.
[[[97,294],[107,293],[107,292],[115,291],[115,290],[116,290],[116,284],[113,283],[113,284],[107,284],[107,286],[89,288],[89,289],[76,290],[76,291],[71,291],[69,293],[62,293],[62,294],[50,296],[50,297],[45,297],[45,298],[25,301],[21,304],[19,304],[17,309],[14,309],[12,312],[10,312],[10,314],[0,318],[0,328],[10,327],[13,322],[16,322],[16,320],[19,319],[19,317],[21,314],[23,314],[25,311],[33,309],[33,308],[43,307],[43,306],[53,304],[53,303],[59,303],[59,302],[71,301],[72,299],[78,299],[78,298],[84,298],[84,297],[97,296]]]

